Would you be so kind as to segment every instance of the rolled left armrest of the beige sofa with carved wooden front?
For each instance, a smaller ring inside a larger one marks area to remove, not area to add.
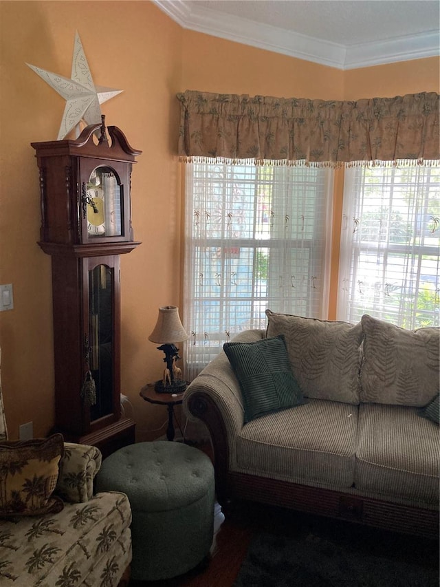
[[[249,343],[264,337],[264,330],[245,330],[232,340]],[[239,381],[223,350],[188,385],[183,404],[186,415],[202,420],[210,432],[217,496],[221,501],[227,491],[226,475],[236,461],[236,438],[244,423]]]

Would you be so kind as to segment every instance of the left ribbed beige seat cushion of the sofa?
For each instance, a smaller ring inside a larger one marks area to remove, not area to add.
[[[358,406],[311,399],[252,420],[237,437],[234,471],[295,483],[353,484]]]

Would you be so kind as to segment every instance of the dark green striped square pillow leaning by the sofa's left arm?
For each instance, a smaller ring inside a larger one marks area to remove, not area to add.
[[[240,383],[245,423],[306,403],[292,374],[283,335],[253,343],[225,343],[223,349]]]

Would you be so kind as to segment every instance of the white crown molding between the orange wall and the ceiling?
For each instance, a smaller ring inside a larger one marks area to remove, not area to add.
[[[193,10],[188,8],[184,0],[153,2],[182,28],[339,70],[440,55],[440,36],[435,30],[381,42],[345,46],[203,7]]]

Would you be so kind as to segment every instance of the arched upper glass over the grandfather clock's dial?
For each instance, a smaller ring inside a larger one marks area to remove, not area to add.
[[[97,167],[87,182],[87,234],[89,237],[122,235],[121,186],[110,167]]]

